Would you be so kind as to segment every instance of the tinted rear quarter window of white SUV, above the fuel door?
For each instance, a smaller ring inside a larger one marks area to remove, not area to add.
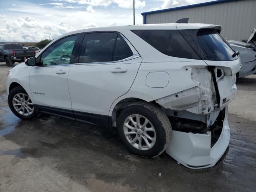
[[[178,30],[132,30],[132,32],[168,56],[200,59]]]

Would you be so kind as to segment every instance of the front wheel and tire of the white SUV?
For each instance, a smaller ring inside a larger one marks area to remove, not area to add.
[[[27,92],[21,86],[18,86],[10,91],[8,95],[8,105],[13,114],[20,119],[33,119],[38,115]],[[20,111],[18,111],[19,108],[21,108]]]

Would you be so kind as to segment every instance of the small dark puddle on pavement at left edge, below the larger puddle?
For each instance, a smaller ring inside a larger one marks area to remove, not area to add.
[[[14,150],[8,150],[0,153],[2,155],[13,155],[19,158],[27,158],[28,156],[35,156],[37,152],[36,148],[19,148]]]

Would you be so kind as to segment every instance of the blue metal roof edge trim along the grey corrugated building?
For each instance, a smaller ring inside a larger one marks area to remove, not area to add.
[[[144,12],[144,13],[141,13],[141,14],[143,16],[146,16],[148,14],[153,14],[153,13],[169,12],[169,11],[174,11],[174,10],[188,9],[188,8],[193,8],[193,7],[201,7],[201,6],[206,6],[206,5],[214,5],[214,4],[226,3],[226,2],[232,2],[232,1],[239,1],[239,0],[216,0],[216,1],[193,4],[193,5],[186,5],[186,6],[181,6],[181,7],[174,7],[174,8],[168,8],[168,9],[162,9],[162,10],[156,10],[156,11],[149,11],[149,12]]]

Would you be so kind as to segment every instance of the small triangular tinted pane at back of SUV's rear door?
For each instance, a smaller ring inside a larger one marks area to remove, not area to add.
[[[133,55],[132,50],[125,42],[125,40],[118,34],[116,39],[116,46],[114,50],[113,61],[122,60]]]

